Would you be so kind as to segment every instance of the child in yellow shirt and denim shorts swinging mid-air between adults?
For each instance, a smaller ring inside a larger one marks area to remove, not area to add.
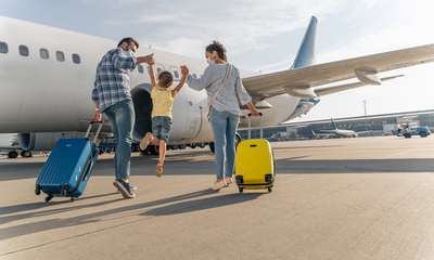
[[[166,144],[169,140],[171,130],[171,107],[174,104],[175,95],[181,90],[188,70],[186,66],[181,66],[181,80],[175,89],[169,89],[174,82],[174,76],[169,72],[162,72],[158,75],[158,82],[155,81],[154,63],[148,63],[150,65],[151,76],[151,99],[152,99],[152,133],[146,132],[142,141],[140,142],[140,148],[144,151],[150,143],[158,145],[158,164],[156,165],[155,176],[162,177],[163,165],[166,157]]]

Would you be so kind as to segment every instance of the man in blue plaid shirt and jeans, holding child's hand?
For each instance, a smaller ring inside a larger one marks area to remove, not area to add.
[[[129,87],[129,72],[140,63],[154,62],[154,54],[135,56],[139,42],[132,37],[124,38],[116,49],[110,50],[97,66],[97,77],[92,90],[95,107],[92,120],[101,121],[104,113],[111,122],[116,141],[115,178],[113,182],[125,198],[133,198],[136,194],[130,185],[130,158],[132,128],[135,126],[135,107]]]

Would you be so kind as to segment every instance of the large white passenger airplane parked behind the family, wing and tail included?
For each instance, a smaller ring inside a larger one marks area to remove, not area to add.
[[[258,74],[241,70],[243,84],[261,112],[264,127],[277,126],[309,112],[319,96],[399,77],[380,73],[434,61],[434,44],[315,64],[317,18],[311,17],[293,66],[283,72]],[[0,16],[0,133],[17,133],[24,151],[49,151],[62,136],[86,131],[92,117],[90,99],[95,67],[117,41]],[[157,70],[180,77],[180,65],[201,75],[205,58],[191,58],[140,48],[136,55],[154,53]],[[146,67],[130,73],[136,109],[133,139],[151,130],[151,84]],[[318,88],[355,79],[353,83]],[[176,82],[175,82],[176,83]],[[213,142],[205,91],[182,88],[175,99],[169,145]],[[245,107],[242,107],[245,108]],[[242,109],[240,129],[246,128]],[[111,133],[107,118],[102,132]],[[252,127],[259,119],[253,118]]]

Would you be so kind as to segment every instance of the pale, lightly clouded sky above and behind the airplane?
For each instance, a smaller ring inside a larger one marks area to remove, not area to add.
[[[434,43],[432,0],[0,0],[0,15],[204,58],[218,40],[228,60],[261,74],[289,69],[311,16],[317,64]],[[91,44],[91,43],[90,43]],[[382,86],[321,96],[293,121],[433,109],[434,63]],[[353,80],[354,81],[354,80]]]

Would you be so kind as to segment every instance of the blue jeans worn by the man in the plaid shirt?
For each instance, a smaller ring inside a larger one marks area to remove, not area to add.
[[[116,141],[115,177],[128,179],[130,172],[132,128],[135,126],[135,107],[132,101],[122,101],[104,110],[112,125]]]

